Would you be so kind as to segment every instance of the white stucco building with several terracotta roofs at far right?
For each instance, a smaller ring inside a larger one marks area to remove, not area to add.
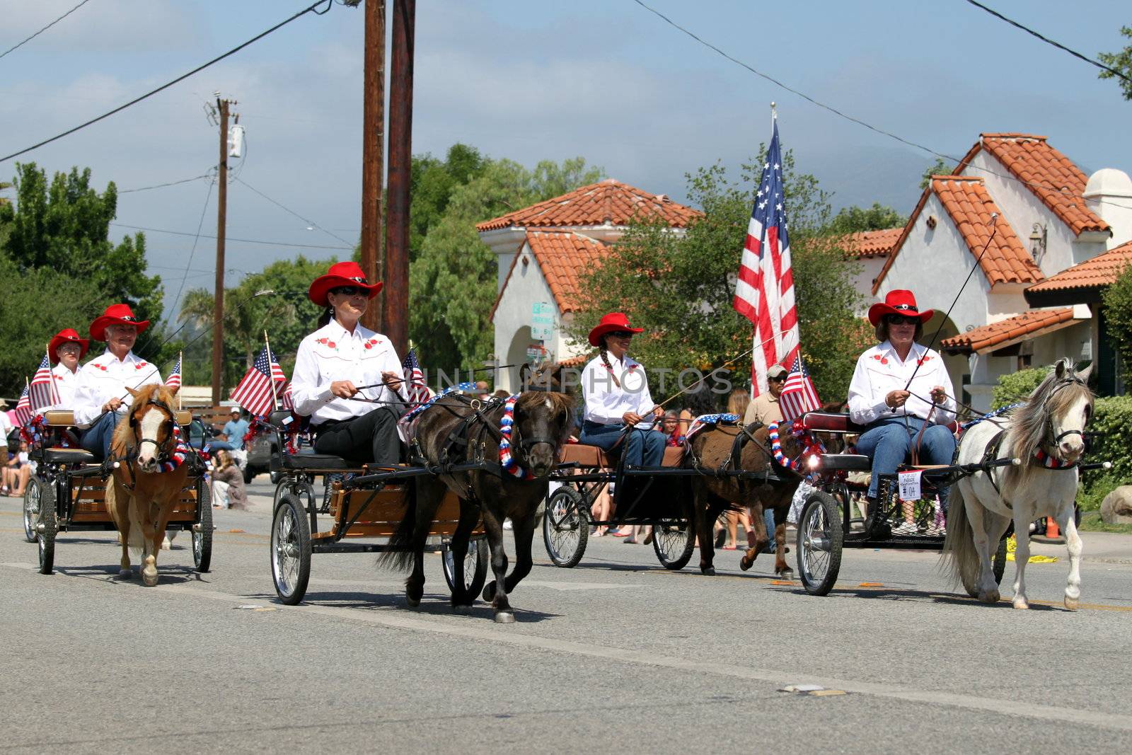
[[[1026,134],[980,135],[953,173],[932,177],[872,293],[909,289],[921,308],[936,309],[927,338],[978,266],[940,346],[957,391],[986,410],[1001,375],[1060,357],[1094,359],[1096,312],[1031,309],[1023,292],[1132,239],[1132,181],[1114,169],[1087,181],[1045,137]]]

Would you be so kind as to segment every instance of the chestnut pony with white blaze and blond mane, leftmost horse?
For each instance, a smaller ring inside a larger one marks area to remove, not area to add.
[[[111,441],[111,456],[120,462],[106,486],[106,509],[122,533],[120,577],[129,577],[130,549],[140,551],[142,580],[157,584],[157,554],[165,526],[185,488],[189,464],[162,471],[177,449],[177,418],[172,409],[175,389],[145,385],[132,391],[129,420],[119,423]]]

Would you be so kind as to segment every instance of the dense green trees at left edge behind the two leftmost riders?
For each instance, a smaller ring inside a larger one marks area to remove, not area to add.
[[[117,302],[129,303],[143,319],[162,312],[161,278],[146,275],[145,237],[110,241],[118,208],[112,182],[98,194],[89,169],[55,173],[50,183],[35,163],[16,170],[16,203],[0,203],[0,321],[19,324],[6,331],[0,355],[0,394],[8,396],[23,391],[25,375],[61,328],[86,333]],[[158,332],[155,323],[135,351],[162,363],[168,350]]]

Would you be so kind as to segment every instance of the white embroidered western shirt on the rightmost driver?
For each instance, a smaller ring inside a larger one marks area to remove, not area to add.
[[[919,363],[920,361],[923,363]],[[908,378],[912,376],[914,370],[916,377],[912,378],[911,385],[908,385]],[[889,409],[884,397],[892,391],[904,391],[906,385],[914,395],[908,397],[903,406]],[[852,380],[849,383],[849,417],[858,424],[869,424],[880,419],[904,414],[927,419],[932,409],[929,403],[932,388],[937,385],[943,386],[947,398],[935,407],[932,421],[946,424],[955,419],[955,401],[951,397],[955,392],[951,387],[951,378],[940,354],[914,343],[908,352],[908,359],[901,361],[891,341],[878,343],[857,359],[857,369],[854,370]]]

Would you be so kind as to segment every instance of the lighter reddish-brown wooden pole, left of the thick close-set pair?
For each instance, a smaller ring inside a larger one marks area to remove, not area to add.
[[[384,275],[381,259],[381,183],[385,174],[385,0],[366,0],[366,68],[362,91],[361,269],[370,282]],[[381,294],[378,294],[380,297]],[[385,333],[381,299],[366,310],[361,324]]]

